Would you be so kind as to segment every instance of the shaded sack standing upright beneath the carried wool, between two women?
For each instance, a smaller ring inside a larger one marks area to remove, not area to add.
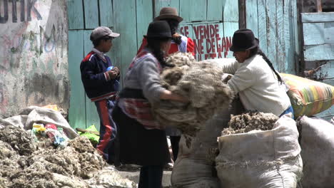
[[[217,137],[221,130],[228,126],[230,114],[240,110],[240,101],[233,101],[228,107],[219,111],[196,137],[182,135],[178,159],[171,175],[173,187],[183,188],[219,188],[219,179],[215,169],[215,158],[218,154]]]

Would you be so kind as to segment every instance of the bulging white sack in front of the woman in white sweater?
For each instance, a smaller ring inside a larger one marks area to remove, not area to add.
[[[218,137],[218,145],[222,187],[292,188],[302,177],[298,130],[290,115],[280,117],[272,130]]]

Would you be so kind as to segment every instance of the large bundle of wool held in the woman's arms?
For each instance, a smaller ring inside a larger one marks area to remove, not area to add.
[[[189,103],[160,100],[153,113],[162,126],[195,135],[218,110],[234,98],[231,88],[221,81],[223,70],[213,61],[196,61],[191,53],[173,53],[166,60],[173,68],[161,73],[164,88],[188,98]]]

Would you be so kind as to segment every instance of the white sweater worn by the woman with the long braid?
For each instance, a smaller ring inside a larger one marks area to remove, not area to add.
[[[281,115],[291,104],[288,95],[262,56],[255,55],[243,63],[217,59],[224,73],[234,76],[228,85],[239,93],[246,110]],[[225,63],[224,63],[225,62]]]

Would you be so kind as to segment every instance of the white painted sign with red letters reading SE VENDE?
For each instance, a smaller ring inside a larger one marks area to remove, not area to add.
[[[198,61],[226,58],[232,46],[232,37],[223,35],[222,23],[181,26],[180,33],[193,39]]]

